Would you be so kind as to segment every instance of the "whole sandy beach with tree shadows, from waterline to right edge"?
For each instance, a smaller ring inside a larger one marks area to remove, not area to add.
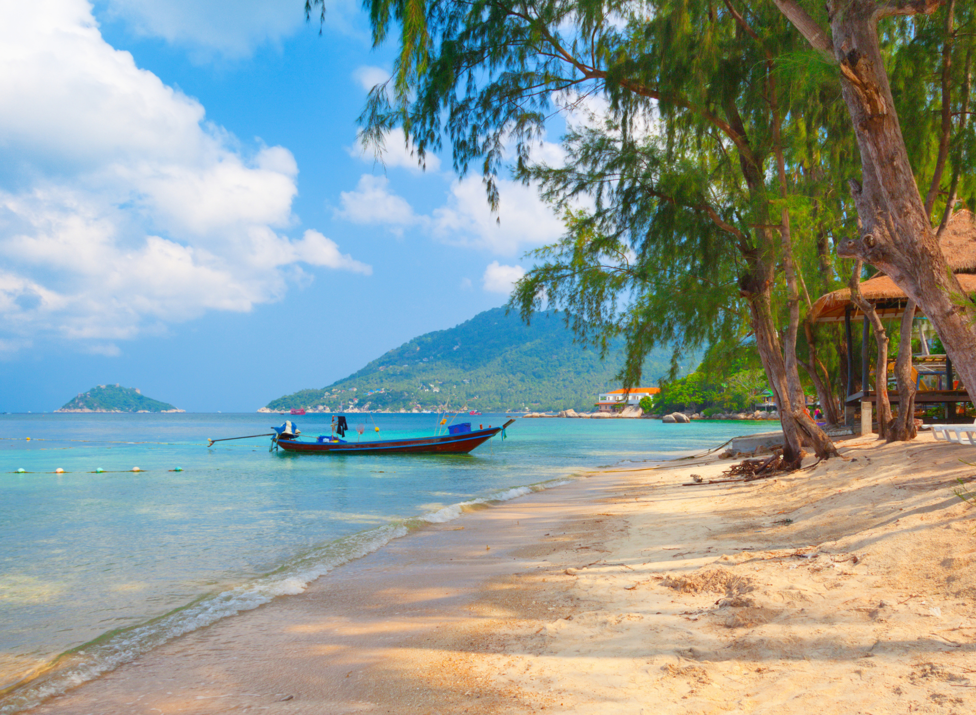
[[[971,447],[604,471],[432,525],[44,713],[976,711]]]

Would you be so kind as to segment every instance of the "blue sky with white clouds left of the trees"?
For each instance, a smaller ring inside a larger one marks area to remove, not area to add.
[[[532,187],[504,179],[492,215],[402,134],[364,153],[394,48],[357,2],[321,28],[304,0],[0,13],[0,412],[115,382],[253,412],[504,304],[562,233]]]

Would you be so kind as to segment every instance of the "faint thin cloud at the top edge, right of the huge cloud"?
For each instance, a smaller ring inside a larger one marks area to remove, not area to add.
[[[280,42],[305,22],[302,0],[97,0],[97,7],[138,34],[189,48],[195,60],[247,57],[258,46]],[[355,32],[350,20],[356,10],[347,0],[330,0],[326,25]],[[317,16],[312,22],[317,24]]]

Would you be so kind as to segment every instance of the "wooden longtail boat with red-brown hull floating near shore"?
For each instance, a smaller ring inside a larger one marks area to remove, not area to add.
[[[299,439],[301,431],[287,421],[280,427],[272,427],[275,435],[271,438],[272,449],[279,447],[286,452],[301,452],[330,455],[395,455],[395,454],[468,454],[478,445],[490,440],[499,432],[505,437],[505,428],[514,422],[509,419],[501,427],[471,429],[470,422],[453,424],[448,434],[433,437],[413,437],[409,439],[371,440],[368,442],[348,442],[336,436],[321,435],[314,442]]]

